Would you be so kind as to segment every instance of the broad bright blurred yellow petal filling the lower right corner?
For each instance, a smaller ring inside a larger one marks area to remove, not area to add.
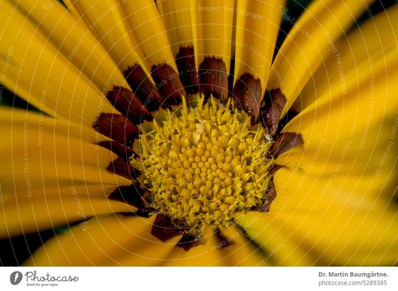
[[[397,207],[362,191],[366,179],[313,175],[281,169],[269,215],[306,246],[320,265],[392,265],[398,256]],[[299,186],[298,186],[299,185]],[[372,190],[367,190],[372,191]]]

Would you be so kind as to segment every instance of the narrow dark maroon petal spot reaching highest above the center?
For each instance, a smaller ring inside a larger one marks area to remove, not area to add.
[[[199,76],[195,64],[195,51],[192,46],[180,47],[176,56],[180,80],[188,94],[199,92]]]

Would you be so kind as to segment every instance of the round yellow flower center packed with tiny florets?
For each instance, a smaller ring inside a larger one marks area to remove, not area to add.
[[[151,206],[190,234],[223,229],[248,209],[261,207],[270,185],[266,129],[252,127],[244,111],[198,98],[155,121],[139,139],[141,184]],[[143,129],[141,128],[141,132]]]

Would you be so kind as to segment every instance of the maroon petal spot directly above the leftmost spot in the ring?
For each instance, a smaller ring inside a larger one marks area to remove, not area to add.
[[[134,124],[140,124],[144,120],[151,121],[153,119],[148,108],[127,88],[113,87],[106,94],[106,98]]]

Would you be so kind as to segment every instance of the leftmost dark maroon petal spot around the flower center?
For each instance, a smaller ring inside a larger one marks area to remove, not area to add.
[[[100,134],[125,145],[130,145],[139,135],[138,127],[120,114],[101,113],[93,127]]]

